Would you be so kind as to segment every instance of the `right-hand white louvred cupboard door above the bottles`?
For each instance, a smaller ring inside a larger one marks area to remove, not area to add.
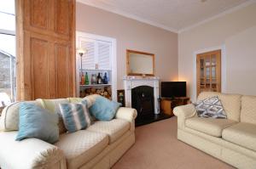
[[[99,70],[111,70],[111,43],[97,41],[97,63]]]

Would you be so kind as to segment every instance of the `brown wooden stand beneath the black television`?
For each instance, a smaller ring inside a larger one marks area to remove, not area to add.
[[[189,97],[177,97],[173,99],[162,98],[160,99],[160,112],[173,116],[172,110],[179,105],[185,104],[189,104]]]

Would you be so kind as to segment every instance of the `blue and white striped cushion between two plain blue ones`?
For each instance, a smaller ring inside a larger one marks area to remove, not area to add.
[[[90,115],[86,100],[77,104],[59,104],[61,117],[68,132],[77,132],[90,126]]]

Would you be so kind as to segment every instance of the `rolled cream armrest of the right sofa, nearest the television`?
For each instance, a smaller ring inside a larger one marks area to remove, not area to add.
[[[177,127],[182,129],[185,125],[185,120],[196,115],[195,105],[177,106],[174,108],[173,114],[177,116]]]

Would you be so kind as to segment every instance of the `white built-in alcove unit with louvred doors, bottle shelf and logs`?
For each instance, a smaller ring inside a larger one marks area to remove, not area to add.
[[[84,98],[90,94],[100,94],[108,99],[116,100],[116,41],[110,37],[102,37],[85,32],[76,33],[77,48],[84,48],[86,52],[82,57],[77,55],[77,94]],[[87,73],[88,84],[81,81],[82,74]],[[102,79],[105,73],[108,76],[108,84],[95,84],[92,76]]]

